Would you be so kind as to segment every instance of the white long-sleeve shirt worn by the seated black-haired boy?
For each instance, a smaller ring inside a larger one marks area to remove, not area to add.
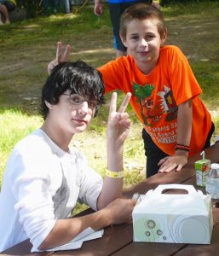
[[[76,202],[96,210],[102,178],[77,148],[66,153],[38,129],[14,147],[0,193],[0,252],[30,238],[39,247]]]

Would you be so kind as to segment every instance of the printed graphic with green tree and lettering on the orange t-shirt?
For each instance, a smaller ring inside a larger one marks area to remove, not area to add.
[[[155,93],[153,84],[133,85],[134,96],[141,108],[141,118],[147,132],[158,143],[173,143],[176,141],[177,125],[171,123],[176,119],[177,106],[172,91],[166,85],[163,90]],[[158,125],[162,120],[164,127]],[[158,125],[158,127],[156,127]]]

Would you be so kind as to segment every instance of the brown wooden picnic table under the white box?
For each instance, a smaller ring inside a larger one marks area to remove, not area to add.
[[[205,158],[210,159],[211,163],[219,162],[219,142],[205,149]],[[186,166],[181,172],[158,173],[131,186],[124,191],[125,197],[132,197],[136,192],[145,194],[149,189],[155,189],[158,184],[182,183],[192,184],[196,189],[205,193],[205,188],[196,185],[194,162],[200,160],[201,156],[195,154],[189,158]],[[92,241],[84,241],[83,246],[77,250],[60,252],[31,253],[32,244],[29,240],[23,241],[14,247],[0,253],[1,255],[77,255],[77,256],[216,256],[219,255],[219,200],[212,200],[214,229],[210,245],[197,244],[177,244],[177,243],[153,243],[153,242],[134,242],[132,224],[119,224],[107,227],[104,235]],[[92,212],[87,209],[79,215]],[[195,235],[195,234],[194,234]]]

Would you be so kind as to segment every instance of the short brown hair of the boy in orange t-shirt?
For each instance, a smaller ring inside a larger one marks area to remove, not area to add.
[[[127,25],[131,20],[158,20],[158,33],[163,38],[165,32],[164,15],[157,7],[146,4],[136,3],[124,10],[120,18],[120,34],[122,38],[126,38]]]

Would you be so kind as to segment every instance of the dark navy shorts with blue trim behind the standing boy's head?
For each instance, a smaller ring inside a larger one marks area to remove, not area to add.
[[[112,32],[114,37],[114,48],[119,49],[122,51],[126,51],[126,47],[122,43],[122,40],[119,36],[119,23],[120,23],[120,16],[123,14],[124,10],[129,8],[131,5],[135,3],[152,3],[152,0],[135,0],[135,1],[124,1],[124,3],[114,3],[113,0],[109,1],[108,7],[109,7],[109,14],[110,14],[110,20],[112,23]],[[119,2],[116,0],[115,2]]]

